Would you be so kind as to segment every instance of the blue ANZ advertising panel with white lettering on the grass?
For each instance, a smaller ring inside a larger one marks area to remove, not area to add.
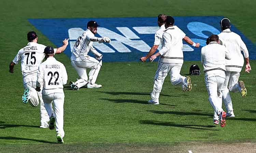
[[[206,39],[211,34],[219,34],[221,27],[219,21],[223,17],[174,17],[178,26],[200,48],[194,48],[183,42],[184,60],[199,61],[200,51],[205,46]],[[65,50],[67,56],[71,51],[77,37],[86,30],[87,22],[98,22],[96,37],[107,36],[110,44],[97,43],[93,46],[103,55],[104,62],[139,61],[145,56],[154,44],[154,34],[159,29],[156,17],[126,17],[126,18],[77,18],[77,19],[28,19],[35,28],[49,38],[57,47],[62,46],[62,40],[69,38],[69,46]],[[254,44],[247,39],[236,27],[231,25],[231,31],[239,34],[246,44],[250,59],[255,60]],[[40,36],[39,36],[40,37]],[[40,42],[39,42],[40,43]],[[47,44],[44,44],[47,45]],[[158,49],[160,49],[159,46]],[[89,54],[91,55],[91,54]]]

